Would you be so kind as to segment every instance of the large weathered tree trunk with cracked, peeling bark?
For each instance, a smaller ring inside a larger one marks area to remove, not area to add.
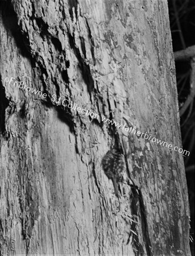
[[[56,104],[181,146],[167,2],[1,7],[1,255],[190,255],[182,156]],[[118,197],[101,167],[113,148]]]

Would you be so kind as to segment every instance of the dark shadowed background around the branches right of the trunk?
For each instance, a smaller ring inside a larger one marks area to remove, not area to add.
[[[168,0],[173,51],[195,45],[195,0]],[[195,53],[194,53],[195,55]],[[177,92],[182,108],[190,93],[191,60],[176,61]],[[194,256],[194,98],[180,117],[182,146],[190,151],[184,159],[190,203],[190,249]]]

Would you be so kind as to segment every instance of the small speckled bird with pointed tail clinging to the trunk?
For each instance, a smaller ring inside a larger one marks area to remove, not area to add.
[[[115,195],[119,198],[118,183],[123,182],[126,174],[125,156],[114,148],[107,151],[101,164],[106,176],[113,182]]]

